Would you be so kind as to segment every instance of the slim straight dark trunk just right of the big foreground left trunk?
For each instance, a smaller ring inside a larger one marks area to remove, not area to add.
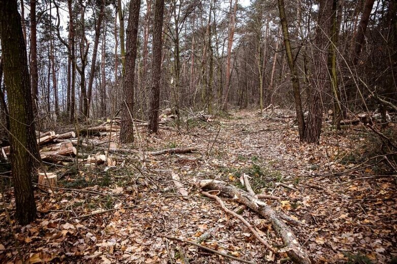
[[[30,77],[32,77],[33,110],[39,103],[39,74],[37,69],[36,0],[30,0]]]

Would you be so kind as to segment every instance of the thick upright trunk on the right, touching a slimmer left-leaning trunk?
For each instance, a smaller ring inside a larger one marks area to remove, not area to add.
[[[321,0],[316,28],[315,51],[313,55],[313,78],[311,79],[311,93],[309,95],[309,114],[304,131],[304,141],[319,143],[321,134],[321,123],[323,116],[322,95],[327,81],[327,54],[329,45],[329,29],[331,20],[329,14],[332,11],[332,0]]]

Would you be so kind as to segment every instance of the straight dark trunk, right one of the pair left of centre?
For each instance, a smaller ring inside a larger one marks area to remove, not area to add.
[[[153,62],[150,112],[148,130],[150,133],[157,133],[159,130],[159,107],[160,107],[160,82],[161,82],[161,50],[163,48],[163,16],[164,0],[156,0],[155,19],[153,23]]]

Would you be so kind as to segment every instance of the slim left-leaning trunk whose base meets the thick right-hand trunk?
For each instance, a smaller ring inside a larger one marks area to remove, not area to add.
[[[288,65],[291,71],[291,81],[292,81],[292,88],[294,90],[294,99],[295,99],[295,109],[296,109],[296,120],[298,121],[298,129],[299,129],[299,139],[300,141],[304,140],[305,136],[305,126],[303,119],[303,110],[302,110],[302,102],[300,98],[300,87],[299,87],[299,79],[298,73],[295,67],[295,62],[292,55],[292,48],[289,39],[289,32],[288,32],[288,25],[287,25],[287,18],[285,15],[284,9],[284,0],[278,0],[279,11],[280,11],[280,19],[281,25],[284,34],[284,44],[285,44],[285,51],[287,54]]]

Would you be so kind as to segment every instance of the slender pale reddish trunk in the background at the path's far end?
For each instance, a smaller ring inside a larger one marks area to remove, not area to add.
[[[229,95],[229,86],[230,86],[230,62],[232,56],[232,46],[233,46],[233,36],[234,36],[234,28],[235,28],[235,20],[236,20],[236,11],[237,11],[237,0],[234,3],[233,12],[230,13],[229,20],[229,38],[227,43],[227,62],[226,62],[226,80],[225,80],[225,89],[223,90],[223,105],[222,110],[227,111],[228,104],[228,95]]]

